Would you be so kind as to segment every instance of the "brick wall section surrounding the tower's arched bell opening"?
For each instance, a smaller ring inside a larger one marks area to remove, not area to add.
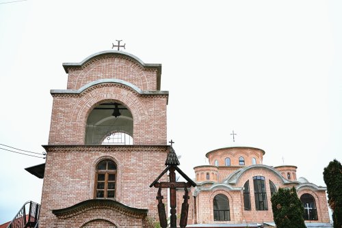
[[[120,102],[131,111],[135,145],[166,145],[167,99],[142,96],[113,83],[95,85],[81,94],[53,94],[49,145],[84,145],[88,115],[105,102]]]

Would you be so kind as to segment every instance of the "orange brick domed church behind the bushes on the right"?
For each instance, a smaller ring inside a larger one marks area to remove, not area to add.
[[[272,195],[278,188],[292,186],[304,205],[306,223],[330,223],[326,188],[304,177],[297,178],[294,165],[263,165],[264,155],[263,149],[254,147],[226,147],[208,152],[210,165],[194,167],[197,186],[191,190],[188,220],[188,224],[194,225],[188,227],[261,227],[273,221]]]

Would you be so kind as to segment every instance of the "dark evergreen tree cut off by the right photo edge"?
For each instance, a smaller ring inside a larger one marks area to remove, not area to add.
[[[328,203],[332,210],[334,228],[342,227],[342,165],[334,159],[324,168],[324,182],[328,192]]]

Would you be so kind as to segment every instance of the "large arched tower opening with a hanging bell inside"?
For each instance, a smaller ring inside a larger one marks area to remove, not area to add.
[[[118,102],[105,102],[88,115],[86,145],[133,145],[133,115]]]

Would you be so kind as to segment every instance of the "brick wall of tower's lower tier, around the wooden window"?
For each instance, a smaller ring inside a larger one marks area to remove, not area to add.
[[[68,223],[59,222],[52,214],[52,210],[68,208],[81,201],[94,199],[95,167],[103,159],[114,160],[117,165],[116,201],[129,205],[131,208],[148,209],[149,216],[157,214],[157,200],[155,199],[157,189],[149,188],[149,185],[165,169],[163,163],[166,160],[167,146],[49,145],[45,149],[47,160],[40,227],[51,227],[53,224],[58,224],[57,227],[64,227],[61,224]],[[132,175],[132,173],[135,174]],[[167,195],[166,190],[162,193]],[[83,213],[76,218],[81,220],[89,216]],[[103,218],[109,217],[103,216]],[[127,219],[122,218],[122,221]],[[132,222],[132,224],[135,223],[136,221]],[[139,223],[142,223],[141,220]]]

